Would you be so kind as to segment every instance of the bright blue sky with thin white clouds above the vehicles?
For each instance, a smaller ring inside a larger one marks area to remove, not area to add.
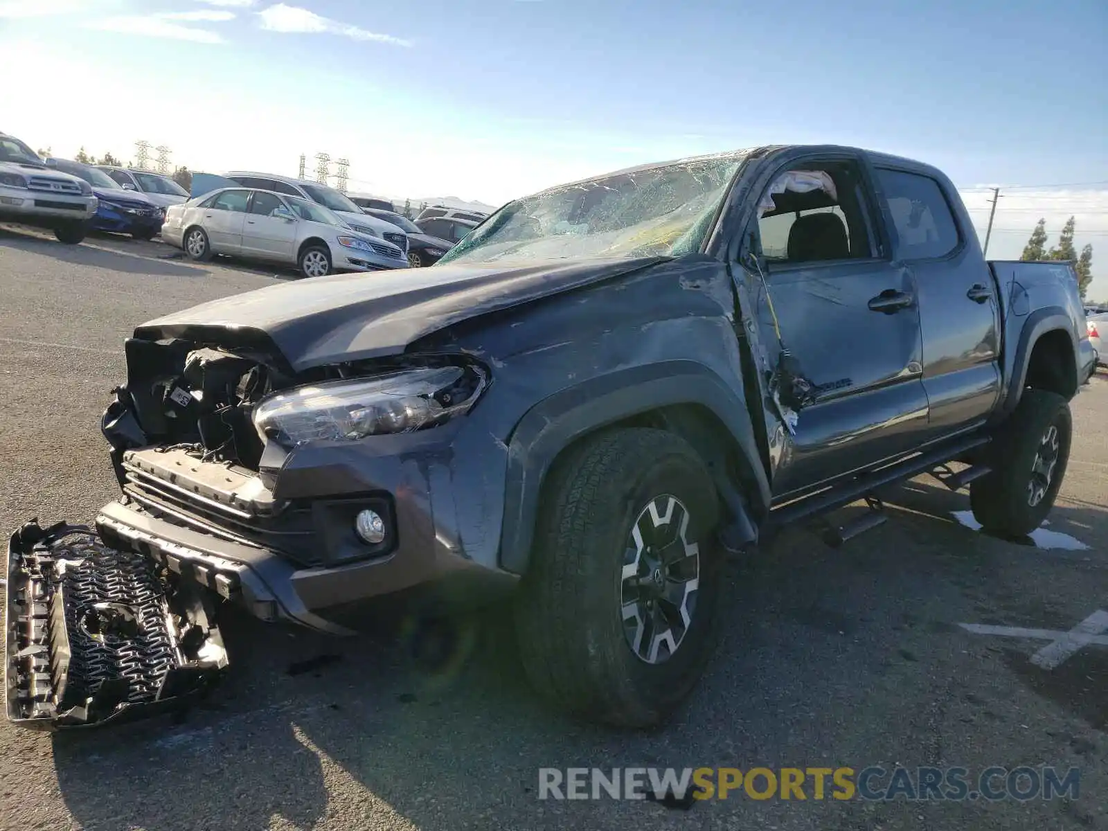
[[[1108,301],[1106,42],[1105,0],[0,0],[0,130],[213,173],[324,152],[351,191],[492,205],[849,144],[944,170],[982,238],[999,186],[992,258],[1075,215]]]

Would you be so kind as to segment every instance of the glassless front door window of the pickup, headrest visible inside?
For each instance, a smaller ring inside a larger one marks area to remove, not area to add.
[[[861,181],[851,162],[778,174],[758,203],[758,242],[767,264],[875,256]]]

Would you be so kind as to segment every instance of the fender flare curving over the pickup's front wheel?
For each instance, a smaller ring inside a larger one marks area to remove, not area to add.
[[[769,482],[741,391],[694,361],[635,367],[556,392],[520,419],[509,440],[501,566],[515,574],[526,572],[540,493],[558,453],[606,424],[678,404],[699,404],[722,422],[757,481],[757,493],[748,497],[757,503],[756,510],[767,509]]]

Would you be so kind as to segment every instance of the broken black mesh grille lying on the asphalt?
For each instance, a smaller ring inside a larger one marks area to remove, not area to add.
[[[211,602],[90,529],[29,522],[8,548],[8,716],[88,726],[179,706],[227,665]]]

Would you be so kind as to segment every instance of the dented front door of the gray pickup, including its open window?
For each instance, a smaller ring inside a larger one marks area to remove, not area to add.
[[[788,189],[824,175],[833,193]],[[814,394],[773,471],[780,500],[912,450],[927,399],[915,283],[891,256],[864,162],[793,162],[766,179],[758,204],[760,340],[776,362],[779,327]]]

